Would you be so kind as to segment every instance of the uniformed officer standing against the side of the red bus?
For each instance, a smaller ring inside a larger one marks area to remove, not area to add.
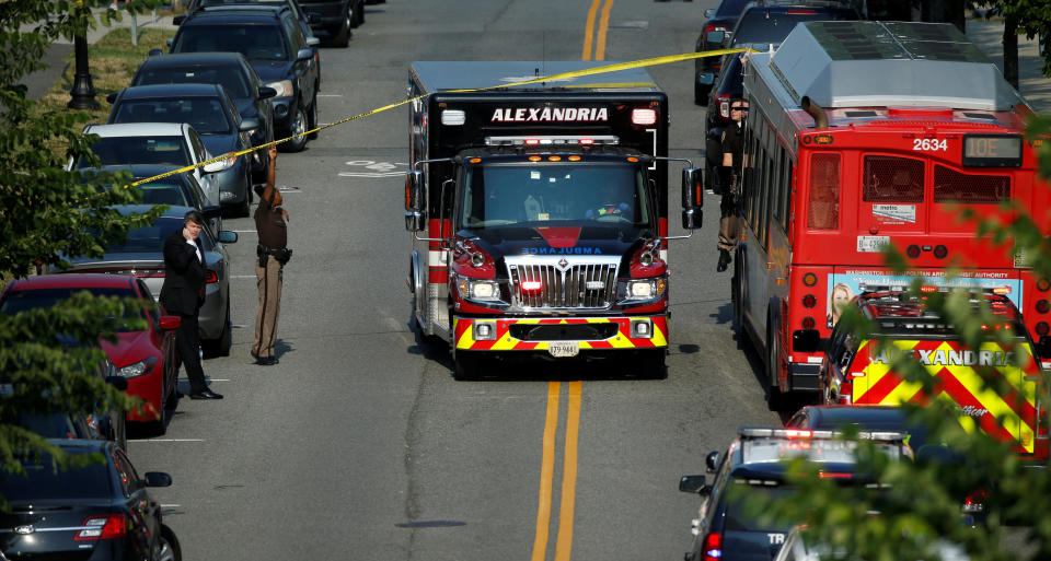
[[[723,131],[723,167],[719,178],[723,184],[723,200],[719,202],[719,264],[715,270],[723,272],[730,265],[730,252],[737,247],[740,226],[737,220],[737,200],[740,197],[741,164],[744,160],[744,117],[748,102],[730,102],[730,125]],[[729,183],[729,188],[727,188]]]

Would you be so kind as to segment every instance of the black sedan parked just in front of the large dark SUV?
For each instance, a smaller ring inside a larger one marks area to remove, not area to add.
[[[161,54],[155,49],[157,55]],[[233,100],[241,119],[256,119],[259,127],[250,132],[253,147],[274,141],[274,104],[277,90],[264,85],[255,69],[240,52],[186,52],[151,56],[139,65],[130,85],[205,83],[221,84]],[[255,183],[266,180],[266,150],[252,153]],[[187,204],[192,206],[192,204]]]

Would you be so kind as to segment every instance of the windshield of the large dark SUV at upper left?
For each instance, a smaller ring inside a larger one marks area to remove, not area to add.
[[[249,60],[288,60],[289,55],[277,25],[184,26],[172,52],[240,52]]]

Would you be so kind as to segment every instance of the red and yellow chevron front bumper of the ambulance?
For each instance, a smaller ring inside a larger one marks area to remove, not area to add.
[[[457,349],[575,357],[668,347],[668,316],[454,317]]]

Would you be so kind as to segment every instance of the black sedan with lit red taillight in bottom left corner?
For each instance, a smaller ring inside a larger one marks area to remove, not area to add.
[[[101,454],[102,463],[56,471],[51,457],[22,457],[24,476],[0,474],[0,551],[8,559],[178,561],[182,550],[148,487],[169,487],[168,474],[145,478],[112,442],[51,440],[68,454]]]

